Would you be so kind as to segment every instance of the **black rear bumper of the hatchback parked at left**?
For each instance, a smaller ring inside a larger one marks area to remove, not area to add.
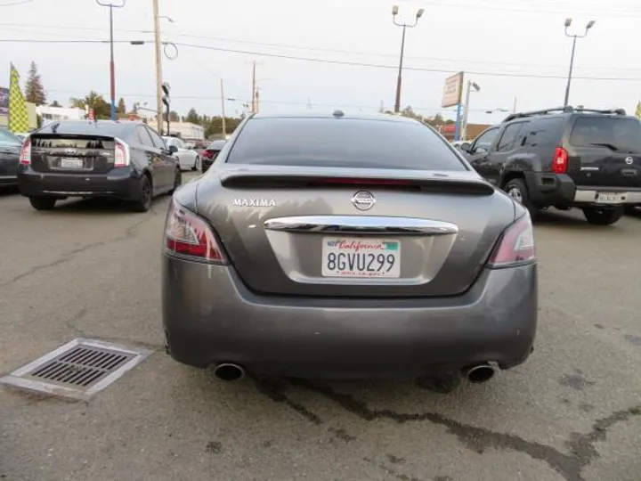
[[[108,174],[61,174],[35,172],[20,167],[18,187],[26,197],[113,197],[134,200],[138,174],[132,167],[115,168]]]

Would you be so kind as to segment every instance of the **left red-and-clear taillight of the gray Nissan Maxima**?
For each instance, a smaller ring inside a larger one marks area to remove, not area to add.
[[[165,223],[167,252],[223,264],[223,249],[213,229],[199,216],[172,201]]]

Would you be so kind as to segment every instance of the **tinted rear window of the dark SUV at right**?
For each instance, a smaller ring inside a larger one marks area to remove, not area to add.
[[[641,153],[641,123],[635,118],[580,117],[572,127],[570,144]]]

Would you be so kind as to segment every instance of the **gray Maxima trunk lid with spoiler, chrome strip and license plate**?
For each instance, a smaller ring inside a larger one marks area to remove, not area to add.
[[[225,168],[198,198],[247,287],[276,295],[457,295],[515,217],[473,172]]]

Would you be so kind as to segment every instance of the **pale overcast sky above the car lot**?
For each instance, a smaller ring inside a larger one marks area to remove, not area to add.
[[[15,4],[20,1],[26,3]],[[418,8],[425,9],[418,26],[408,30],[402,88],[402,106],[410,105],[424,115],[442,110],[443,81],[458,70],[469,72],[467,78],[481,87],[472,96],[471,123],[498,121],[505,114],[485,111],[512,110],[515,97],[518,110],[563,104],[572,48],[572,40],[564,35],[566,17],[573,18],[576,33],[582,33],[588,20],[596,20],[588,37],[577,42],[570,102],[633,112],[641,100],[641,4],[635,0],[395,3],[400,5],[400,19],[408,22]],[[252,61],[257,62],[262,111],[306,110],[309,104],[313,110],[375,111],[381,102],[391,110],[402,35],[393,23],[393,4],[386,0],[160,0],[161,14],[174,20],[161,20],[162,38],[178,45],[177,59],[163,58],[173,110],[184,114],[194,107],[208,115],[219,114],[220,77],[226,97],[247,102]],[[124,97],[128,107],[149,102],[153,108],[151,0],[127,0],[124,8],[114,11],[114,25],[116,40],[147,41],[146,45],[115,46],[117,98]],[[107,40],[109,9],[93,0],[0,0],[0,39]],[[29,62],[37,62],[49,102],[66,105],[69,97],[90,90],[109,100],[107,44],[0,43],[0,86],[8,86],[10,61],[23,80]],[[226,109],[233,115],[242,107],[230,101]],[[441,113],[451,118],[451,110]]]

